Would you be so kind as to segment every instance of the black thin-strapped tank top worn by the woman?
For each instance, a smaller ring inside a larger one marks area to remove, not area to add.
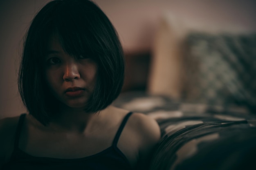
[[[131,114],[132,112],[124,117],[112,146],[97,154],[78,159],[34,157],[20,150],[18,147],[19,137],[25,119],[25,114],[22,114],[16,130],[13,153],[9,163],[4,166],[4,170],[130,170],[130,163],[117,148],[117,142]]]

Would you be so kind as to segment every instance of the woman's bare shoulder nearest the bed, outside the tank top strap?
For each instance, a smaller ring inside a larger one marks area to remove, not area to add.
[[[124,134],[126,134],[126,141],[129,141],[129,150],[135,149],[133,150],[135,153],[133,155],[134,167],[144,169],[160,140],[160,128],[157,121],[144,113],[132,113]]]

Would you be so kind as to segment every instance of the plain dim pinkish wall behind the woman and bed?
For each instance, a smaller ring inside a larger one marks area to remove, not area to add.
[[[0,118],[25,111],[17,88],[22,37],[40,7],[49,0],[0,0]],[[95,0],[119,33],[125,52],[152,47],[158,19],[165,13],[213,24],[256,30],[254,0]]]

